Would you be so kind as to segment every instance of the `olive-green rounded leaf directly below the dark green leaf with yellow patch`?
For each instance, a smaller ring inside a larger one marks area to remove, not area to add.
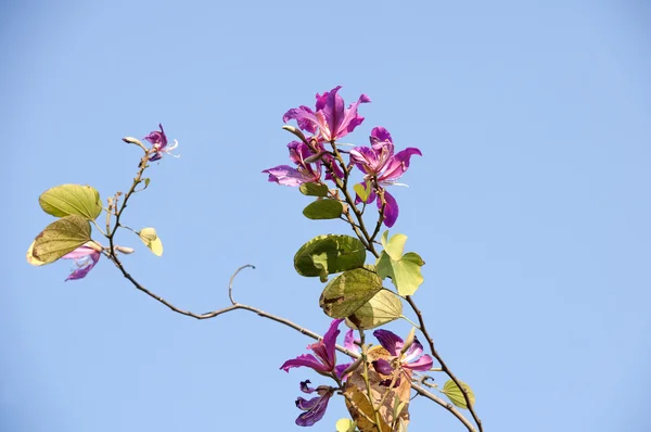
[[[319,306],[331,318],[346,318],[382,290],[382,279],[374,269],[344,271],[326,285]]]

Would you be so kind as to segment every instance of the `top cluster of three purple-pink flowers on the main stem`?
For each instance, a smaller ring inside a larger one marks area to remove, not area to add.
[[[326,150],[326,143],[330,143],[334,149],[337,139],[361,125],[363,117],[359,116],[357,110],[361,103],[371,100],[368,96],[361,94],[357,102],[346,109],[343,98],[337,93],[340,89],[341,86],[323,94],[317,93],[315,111],[302,105],[283,115],[284,123],[296,120],[302,131],[312,136],[305,138],[303,142],[292,141],[288,145],[290,160],[296,167],[279,165],[263,173],[269,175],[269,181],[297,187],[308,182],[320,183],[323,166],[328,168],[326,180],[332,180],[333,177],[343,178],[349,174],[352,167],[357,167],[363,175],[362,185],[368,182],[372,189],[365,200],[357,195],[355,204],[362,201],[365,204],[375,202],[384,225],[392,227],[398,218],[398,204],[385,188],[400,185],[397,180],[409,168],[411,156],[414,154],[422,156],[422,153],[417,148],[395,152],[391,134],[383,127],[375,127],[371,131],[370,147],[356,147],[349,151],[347,173],[343,173],[339,163],[345,167],[344,162],[335,160],[334,153]]]

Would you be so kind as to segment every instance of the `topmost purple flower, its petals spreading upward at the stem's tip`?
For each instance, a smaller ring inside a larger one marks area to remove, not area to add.
[[[363,122],[363,117],[357,115],[359,104],[371,100],[368,96],[361,94],[357,102],[345,109],[344,99],[337,94],[341,88],[337,86],[323,94],[317,93],[316,111],[302,105],[288,111],[282,116],[282,120],[288,123],[295,119],[301,129],[316,134],[324,141],[335,141],[345,137]]]

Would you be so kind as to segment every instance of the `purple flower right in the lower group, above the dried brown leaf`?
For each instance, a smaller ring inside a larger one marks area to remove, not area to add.
[[[429,354],[423,354],[423,345],[416,336],[413,338],[411,345],[403,353],[405,342],[395,333],[388,330],[375,330],[373,335],[378,338],[382,347],[384,347],[390,355],[395,357],[392,361],[384,358],[373,361],[375,371],[388,376],[396,369],[425,371],[432,368],[432,364],[434,363],[432,357]],[[396,381],[396,385],[399,385],[399,381]]]

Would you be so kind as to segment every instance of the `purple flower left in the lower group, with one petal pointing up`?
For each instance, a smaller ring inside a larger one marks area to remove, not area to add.
[[[324,376],[332,376],[332,373],[335,373],[340,377],[340,374],[350,366],[349,364],[336,366],[335,345],[336,336],[341,333],[339,325],[342,321],[343,319],[333,320],[322,340],[307,345],[307,347],[315,353],[316,357],[311,354],[302,354],[296,358],[286,360],[280,368],[285,372],[289,372],[291,368],[306,366]]]

